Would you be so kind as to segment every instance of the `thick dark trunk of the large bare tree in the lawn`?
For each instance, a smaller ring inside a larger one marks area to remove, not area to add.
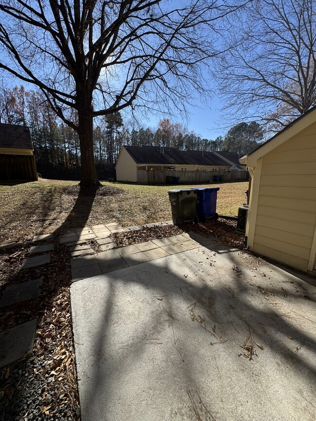
[[[95,169],[93,152],[93,118],[84,111],[78,113],[78,135],[81,152],[82,178],[79,185],[85,187],[100,186]]]

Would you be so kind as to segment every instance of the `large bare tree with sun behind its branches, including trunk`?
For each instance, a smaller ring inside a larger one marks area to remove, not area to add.
[[[42,90],[78,132],[81,185],[99,185],[93,118],[129,106],[183,109],[204,94],[202,64],[214,34],[238,6],[189,0],[0,0],[0,68]],[[234,2],[236,4],[236,2]],[[78,124],[67,118],[77,112]]]

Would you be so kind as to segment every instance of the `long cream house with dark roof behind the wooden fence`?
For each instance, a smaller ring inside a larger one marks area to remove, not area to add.
[[[179,151],[158,146],[123,146],[115,169],[118,181],[136,182],[138,170],[229,171],[234,164],[227,157],[214,152]]]

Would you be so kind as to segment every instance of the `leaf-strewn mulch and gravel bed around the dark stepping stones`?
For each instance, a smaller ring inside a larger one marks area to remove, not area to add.
[[[34,318],[37,328],[32,352],[0,369],[0,421],[79,420],[69,252],[65,245],[55,244],[49,264],[24,269],[22,274],[20,263],[31,245],[24,241],[15,261],[9,259],[15,249],[0,254],[1,293],[4,286],[44,277],[40,296],[1,311],[0,330]]]

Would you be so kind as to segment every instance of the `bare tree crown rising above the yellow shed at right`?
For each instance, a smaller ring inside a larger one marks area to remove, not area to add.
[[[214,72],[225,109],[280,130],[316,105],[316,2],[255,0],[237,15]]]

